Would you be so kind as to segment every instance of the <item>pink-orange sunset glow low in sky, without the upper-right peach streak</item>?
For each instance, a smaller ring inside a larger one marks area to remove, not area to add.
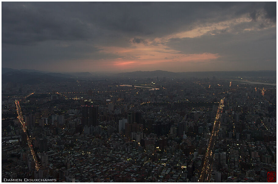
[[[167,48],[166,46],[154,46],[146,44],[133,44],[133,47],[100,47],[104,53],[120,55],[119,58],[110,59],[106,65],[113,65],[121,69],[131,67],[142,67],[153,64],[184,63],[184,62],[209,62],[220,56],[212,53],[182,54],[179,51]]]

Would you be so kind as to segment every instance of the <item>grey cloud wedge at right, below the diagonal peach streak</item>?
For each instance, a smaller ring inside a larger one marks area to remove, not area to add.
[[[276,28],[241,34],[226,32],[196,38],[173,38],[167,46],[183,54],[220,54],[221,61],[233,62],[238,66],[263,62],[264,66],[276,67]]]

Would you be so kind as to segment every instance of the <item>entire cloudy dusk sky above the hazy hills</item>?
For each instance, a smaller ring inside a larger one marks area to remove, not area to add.
[[[276,70],[276,2],[2,2],[2,67]]]

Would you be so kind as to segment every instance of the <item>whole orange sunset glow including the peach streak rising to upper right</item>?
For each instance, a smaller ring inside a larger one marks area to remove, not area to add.
[[[226,20],[218,23],[204,23],[195,25],[191,30],[184,30],[177,33],[165,35],[164,37],[155,37],[153,39],[141,38],[141,43],[134,43],[134,37],[130,38],[130,45],[126,47],[118,46],[98,46],[99,52],[104,54],[117,55],[118,58],[103,60],[94,60],[97,64],[96,68],[115,68],[115,69],[155,69],[164,68],[173,70],[180,70],[183,67],[186,69],[195,69],[200,66],[203,69],[209,66],[210,63],[217,62],[221,64],[219,60],[222,56],[218,53],[193,53],[183,54],[179,50],[170,48],[167,43],[172,38],[194,38],[200,37],[206,34],[214,34],[220,30],[226,29],[230,31],[232,27],[240,23],[251,22],[249,14],[245,14],[239,18]],[[247,30],[245,30],[247,31]],[[185,45],[188,47],[188,45]],[[218,59],[218,60],[216,60]],[[89,64],[90,61],[88,61]],[[231,84],[230,84],[231,85]]]

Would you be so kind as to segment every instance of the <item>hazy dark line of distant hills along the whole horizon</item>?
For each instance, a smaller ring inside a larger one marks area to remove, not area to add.
[[[155,71],[135,71],[125,73],[90,73],[90,72],[72,72],[72,73],[53,73],[45,72],[34,69],[11,69],[2,68],[2,82],[5,81],[60,81],[72,78],[95,78],[102,79],[104,77],[109,78],[154,78],[154,77],[167,77],[167,78],[230,78],[230,77],[276,77],[276,70],[261,70],[261,71],[216,71],[216,72],[168,72],[163,70]]]

